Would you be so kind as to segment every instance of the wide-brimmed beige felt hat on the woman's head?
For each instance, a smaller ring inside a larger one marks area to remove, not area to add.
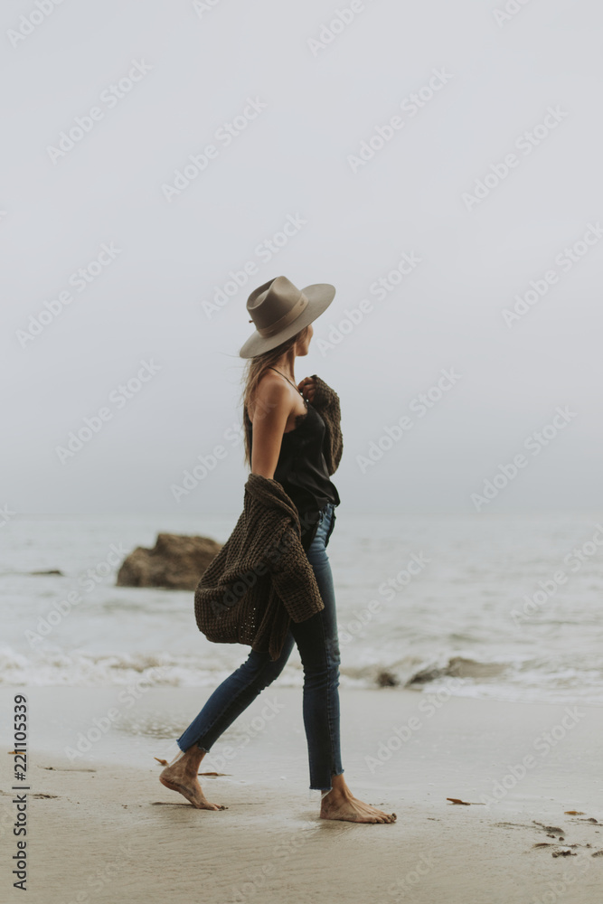
[[[299,289],[287,277],[269,279],[247,299],[250,323],[256,325],[256,331],[241,346],[240,357],[254,358],[290,339],[316,320],[334,296],[335,287],[329,283]]]

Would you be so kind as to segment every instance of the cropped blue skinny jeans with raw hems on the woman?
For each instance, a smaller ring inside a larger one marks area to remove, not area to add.
[[[306,729],[310,787],[331,790],[331,777],[341,775],[339,746],[339,638],[331,564],[326,546],[334,526],[334,504],[320,513],[316,536],[307,558],[325,608],[304,622],[291,622],[285,645],[276,661],[268,653],[251,650],[246,662],[212,693],[203,710],[178,738],[181,750],[208,751],[222,731],[283,671],[294,643],[304,669],[304,727]]]

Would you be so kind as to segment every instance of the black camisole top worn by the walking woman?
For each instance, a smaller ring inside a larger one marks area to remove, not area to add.
[[[296,387],[297,389],[297,387]],[[306,413],[298,414],[296,426],[283,433],[274,480],[277,480],[296,505],[302,528],[301,541],[307,550],[314,539],[319,513],[327,503],[339,505],[337,487],[329,477],[323,454],[325,421],[310,401]],[[245,428],[250,449],[253,424],[245,409]]]

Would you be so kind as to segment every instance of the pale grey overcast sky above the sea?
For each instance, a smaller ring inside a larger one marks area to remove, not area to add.
[[[245,303],[284,274],[336,287],[296,379],[341,399],[342,511],[601,507],[595,0],[1,18],[0,505],[239,512]]]

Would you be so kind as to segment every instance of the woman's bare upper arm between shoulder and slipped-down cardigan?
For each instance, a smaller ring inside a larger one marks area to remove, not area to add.
[[[287,419],[291,392],[282,380],[262,380],[253,416],[251,473],[274,479]]]

